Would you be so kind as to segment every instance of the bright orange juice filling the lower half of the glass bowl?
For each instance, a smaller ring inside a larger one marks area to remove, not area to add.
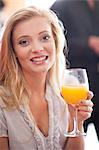
[[[69,104],[79,104],[87,98],[88,90],[84,86],[63,86],[61,94]]]

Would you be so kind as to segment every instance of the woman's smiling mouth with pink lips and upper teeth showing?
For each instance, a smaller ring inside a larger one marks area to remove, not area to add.
[[[41,64],[44,63],[48,59],[48,56],[38,56],[30,59],[35,64]]]

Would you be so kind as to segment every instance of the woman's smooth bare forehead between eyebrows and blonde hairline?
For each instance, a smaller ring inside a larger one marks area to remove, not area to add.
[[[18,23],[13,34],[18,36],[19,34],[27,34],[32,32],[42,32],[43,30],[51,31],[51,24],[45,17],[33,17],[31,19]]]

